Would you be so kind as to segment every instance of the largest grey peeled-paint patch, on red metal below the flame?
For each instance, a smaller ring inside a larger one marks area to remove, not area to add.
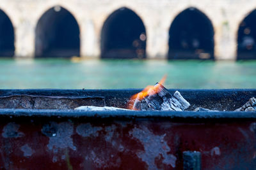
[[[177,158],[170,152],[170,147],[164,141],[165,134],[158,136],[150,132],[147,127],[141,126],[129,132],[134,138],[139,139],[144,146],[144,151],[137,152],[136,155],[148,164],[148,169],[157,169],[155,159],[159,155],[163,156],[163,163],[175,167]]]

